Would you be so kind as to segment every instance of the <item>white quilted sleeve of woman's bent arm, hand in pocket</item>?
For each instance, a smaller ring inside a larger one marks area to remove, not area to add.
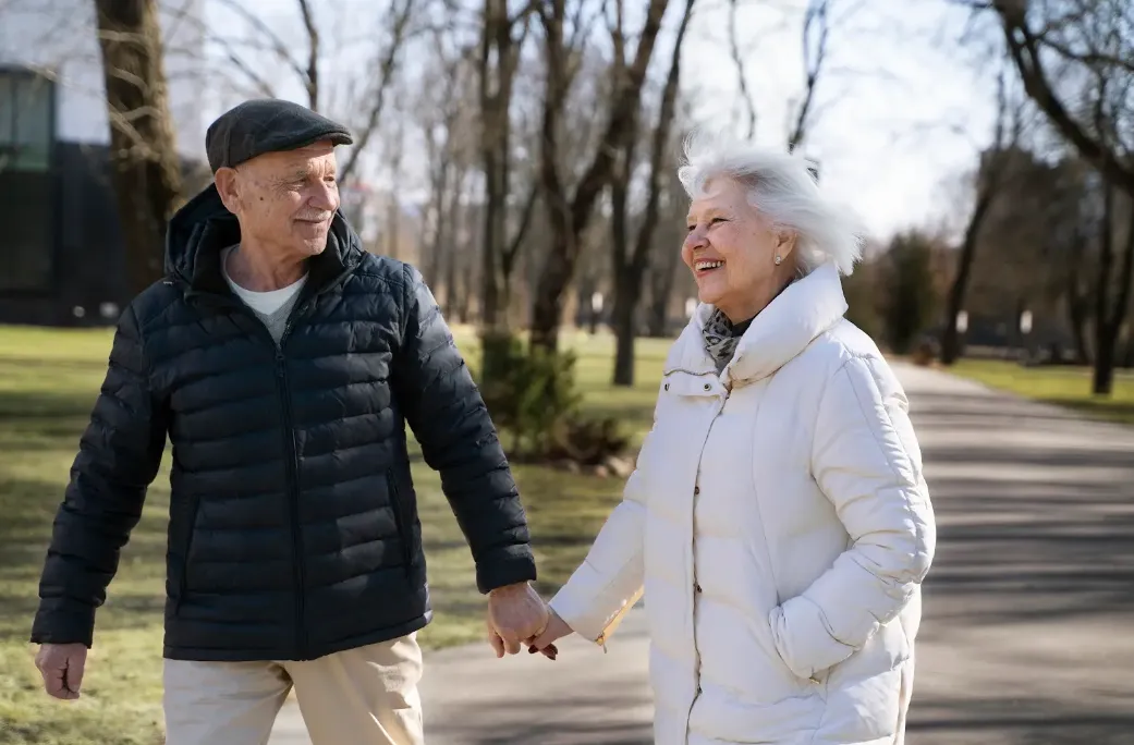
[[[819,405],[812,471],[850,548],[771,612],[777,649],[810,678],[861,649],[909,602],[937,530],[908,403],[882,359],[852,358]]]

